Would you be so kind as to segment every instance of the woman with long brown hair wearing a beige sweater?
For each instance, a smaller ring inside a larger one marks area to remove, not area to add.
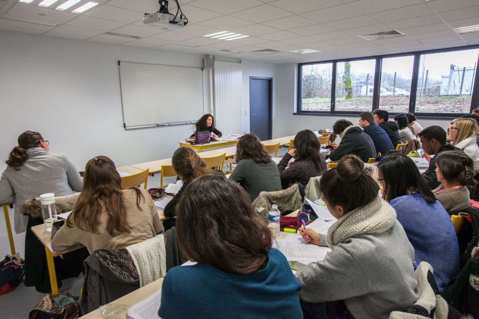
[[[85,167],[85,183],[52,248],[64,253],[78,245],[88,251],[124,248],[163,230],[153,200],[143,188],[123,189],[113,161],[97,156]]]

